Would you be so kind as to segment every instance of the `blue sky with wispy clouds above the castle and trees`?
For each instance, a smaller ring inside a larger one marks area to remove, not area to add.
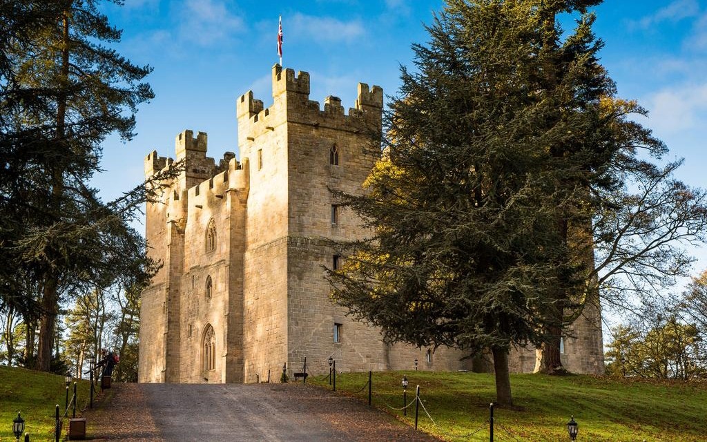
[[[93,180],[104,199],[144,179],[144,156],[175,156],[185,129],[209,134],[208,156],[238,155],[235,100],[252,90],[272,103],[271,68],[278,18],[283,65],[310,73],[310,100],[327,95],[354,106],[358,82],[387,95],[399,88],[399,68],[412,67],[412,43],[428,41],[425,24],[441,0],[124,0],[103,6],[123,30],[112,45],[134,64],[149,64],[146,81],[156,98],[136,114],[137,135],[103,144],[103,173]],[[606,0],[593,9],[604,43],[601,62],[621,98],[636,99],[650,115],[638,117],[665,141],[667,161],[684,158],[677,177],[707,187],[707,0]],[[571,23],[565,27],[568,28]],[[140,227],[141,230],[144,228]],[[707,268],[707,252],[694,272]]]

